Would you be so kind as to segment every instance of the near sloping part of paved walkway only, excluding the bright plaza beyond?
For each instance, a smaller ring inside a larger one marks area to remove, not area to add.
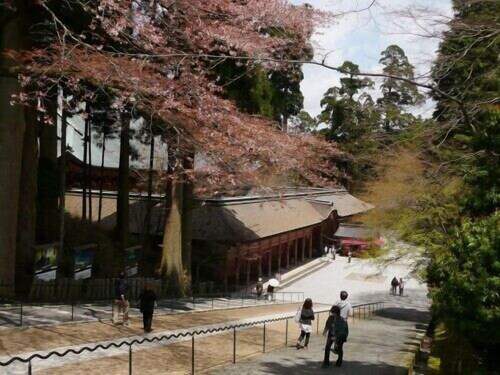
[[[325,339],[313,336],[309,350],[283,348],[253,361],[219,368],[210,374],[407,374],[408,367],[425,333],[429,314],[417,309],[388,308],[381,316],[362,320],[350,326],[350,337],[344,345],[344,364],[322,369]]]

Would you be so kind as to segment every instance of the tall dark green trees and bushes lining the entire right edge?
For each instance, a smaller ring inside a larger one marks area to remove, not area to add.
[[[433,74],[439,89],[463,101],[437,97],[436,119],[449,128],[441,162],[465,183],[459,202],[463,223],[435,243],[428,268],[437,317],[482,350],[490,369],[500,345],[498,1],[453,1],[455,16],[440,45]],[[496,103],[496,105],[495,105]]]

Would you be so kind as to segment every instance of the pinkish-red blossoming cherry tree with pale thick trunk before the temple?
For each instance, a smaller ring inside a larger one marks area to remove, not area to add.
[[[8,52],[14,62],[8,74],[18,75],[21,84],[16,103],[40,103],[42,117],[54,121],[44,103],[60,86],[89,106],[105,95],[120,118],[147,117],[165,129],[162,137],[171,151],[164,176],[171,185],[165,275],[180,282],[184,273],[179,249],[185,242],[185,183],[195,181],[198,194],[237,193],[283,181],[335,183],[334,144],[283,133],[273,121],[239,111],[213,77],[214,66],[235,56],[251,57],[236,61],[249,69],[259,64],[268,72],[295,74],[300,64],[291,60],[307,56],[313,27],[326,22],[327,14],[283,0],[29,3],[41,15],[30,25],[37,42]],[[10,5],[15,8],[16,1]],[[193,171],[187,166],[195,154],[207,162]]]

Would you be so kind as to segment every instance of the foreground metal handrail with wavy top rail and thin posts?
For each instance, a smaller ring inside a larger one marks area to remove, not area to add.
[[[353,309],[356,309],[356,308],[360,308],[360,307],[363,307],[363,306],[378,306],[378,308],[376,310],[372,310],[372,311],[379,311],[379,310],[383,310],[384,309],[384,302],[372,302],[372,303],[367,303],[367,304],[361,304],[361,305],[355,305],[355,306],[352,306]],[[381,308],[380,308],[381,306]],[[330,311],[330,309],[323,309],[323,310],[320,310],[320,311],[317,311],[316,314],[321,314],[321,313],[325,313],[325,312],[328,312]],[[94,352],[98,349],[103,349],[103,350],[107,350],[107,349],[110,349],[112,347],[114,348],[121,348],[122,346],[124,345],[128,345],[129,346],[129,368],[130,368],[130,365],[131,365],[131,359],[132,359],[132,356],[131,356],[131,347],[132,345],[141,345],[141,344],[144,344],[144,343],[153,343],[155,341],[158,341],[158,342],[162,342],[162,341],[168,341],[168,340],[171,340],[171,339],[177,339],[177,338],[180,338],[180,337],[192,337],[192,344],[193,344],[193,353],[194,353],[194,337],[195,336],[199,336],[199,335],[204,335],[204,334],[209,334],[209,333],[215,333],[215,332],[224,332],[224,331],[230,331],[230,330],[236,330],[236,328],[246,328],[246,327],[251,327],[251,326],[257,326],[257,325],[264,325],[264,332],[265,332],[265,325],[266,323],[274,323],[274,322],[279,322],[279,321],[288,321],[289,319],[292,319],[294,318],[295,315],[290,315],[290,316],[286,316],[286,317],[281,317],[281,318],[274,318],[274,319],[264,319],[264,320],[259,320],[259,321],[255,321],[255,322],[248,322],[248,323],[240,323],[240,324],[235,324],[235,325],[230,325],[230,326],[225,326],[225,327],[219,327],[219,328],[210,328],[210,329],[201,329],[201,330],[195,330],[195,331],[190,331],[190,332],[181,332],[181,333],[177,333],[177,334],[170,334],[170,335],[162,335],[162,336],[155,336],[155,337],[152,337],[152,338],[147,338],[147,337],[144,337],[142,339],[134,339],[134,340],[124,340],[120,343],[115,343],[115,342],[111,342],[107,345],[103,345],[103,344],[97,344],[93,347],[89,347],[89,346],[84,346],[78,350],[75,350],[75,349],[68,349],[64,352],[58,352],[58,351],[51,351],[45,355],[42,355],[42,354],[38,354],[38,353],[35,353],[27,358],[22,358],[22,357],[19,357],[19,356],[15,356],[15,357],[11,357],[8,361],[6,362],[0,362],[0,367],[6,367],[6,366],[9,366],[10,364],[12,364],[13,362],[15,361],[18,361],[18,362],[21,362],[21,363],[28,363],[29,364],[29,372],[31,373],[31,361],[33,359],[41,359],[41,360],[46,360],[46,359],[49,359],[50,357],[52,356],[57,356],[57,357],[64,357],[70,353],[72,354],[81,354],[85,351],[87,352]],[[317,332],[319,332],[319,321],[318,321],[318,329],[317,329]],[[287,331],[288,333],[288,331]],[[265,352],[265,334],[264,334],[264,342],[263,342],[263,351]],[[193,361],[194,361],[194,357],[193,357]],[[194,362],[193,362],[193,370],[194,370]],[[193,371],[194,373],[194,371]]]

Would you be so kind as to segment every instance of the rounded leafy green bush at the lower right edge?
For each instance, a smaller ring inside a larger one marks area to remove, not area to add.
[[[500,213],[466,220],[428,269],[437,315],[475,342],[500,344]]]

